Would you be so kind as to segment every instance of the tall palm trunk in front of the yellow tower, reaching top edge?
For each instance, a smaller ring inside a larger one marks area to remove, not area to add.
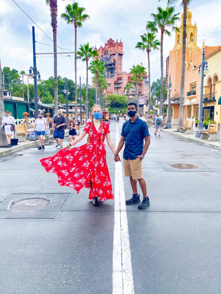
[[[179,95],[179,118],[177,131],[183,126],[183,101],[184,101],[184,78],[185,78],[185,57],[186,57],[186,31],[187,31],[187,0],[183,2],[183,39],[182,39],[182,69]]]

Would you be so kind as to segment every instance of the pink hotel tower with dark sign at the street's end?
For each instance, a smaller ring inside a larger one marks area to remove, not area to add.
[[[131,83],[132,74],[123,71],[123,43],[121,41],[114,42],[114,40],[110,38],[107,43],[105,43],[104,47],[100,46],[100,48],[97,49],[95,46],[94,49],[97,50],[99,54],[99,57],[95,57],[95,59],[99,58],[100,60],[103,60],[106,67],[105,78],[108,83],[108,88],[104,90],[104,95],[127,95],[127,90],[124,90],[124,87],[127,82]],[[148,75],[144,75],[140,86],[139,96],[148,97],[148,87]],[[135,89],[133,87],[129,91],[129,94],[134,96],[134,93]]]

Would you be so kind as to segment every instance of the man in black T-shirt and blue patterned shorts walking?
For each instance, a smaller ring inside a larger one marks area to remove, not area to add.
[[[52,123],[52,131],[54,132],[54,138],[55,141],[57,142],[55,147],[58,147],[60,145],[61,148],[63,148],[63,140],[65,136],[65,125],[66,125],[66,120],[64,116],[62,116],[62,111],[59,110],[57,112],[57,116],[55,116],[54,121]],[[59,142],[60,139],[60,142]]]

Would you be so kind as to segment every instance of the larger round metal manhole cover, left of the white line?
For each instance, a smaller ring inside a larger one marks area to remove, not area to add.
[[[12,203],[10,209],[14,211],[33,211],[46,207],[49,201],[44,198],[21,199]]]

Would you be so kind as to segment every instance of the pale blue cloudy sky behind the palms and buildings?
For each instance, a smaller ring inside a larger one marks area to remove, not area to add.
[[[50,10],[45,5],[45,0],[29,1],[15,0],[19,6],[42,28],[42,30],[52,37],[52,27],[50,26]],[[182,12],[182,7],[178,1],[176,12]],[[65,5],[72,3],[68,0],[58,0],[58,28],[57,44],[60,47],[74,51],[74,26],[67,25],[60,19],[60,14],[65,12]],[[123,71],[129,71],[133,64],[143,62],[147,67],[147,54],[135,50],[134,47],[139,41],[139,36],[145,32],[146,21],[152,20],[150,14],[156,13],[158,5],[166,7],[167,1],[158,0],[82,0],[78,1],[80,6],[87,9],[86,13],[90,19],[83,23],[83,27],[77,32],[77,46],[89,41],[91,46],[100,47],[104,45],[110,37],[116,41],[123,42]],[[192,0],[190,6],[192,11],[192,23],[197,22],[197,45],[208,46],[221,45],[221,1],[220,0]],[[180,22],[178,22],[179,26]],[[0,5],[0,58],[1,66],[9,66],[18,71],[29,69],[33,66],[32,58],[32,21],[17,7],[12,0],[1,0]],[[52,41],[47,38],[37,27],[36,41],[52,45]],[[164,61],[169,55],[169,51],[174,47],[175,34],[169,38],[164,37]],[[158,36],[158,39],[160,36]],[[52,52],[53,47],[36,44],[36,52]],[[60,51],[60,49],[58,49]],[[72,57],[74,61],[74,56]],[[165,62],[164,62],[165,65]],[[43,79],[53,76],[53,57],[38,57],[37,69]],[[77,80],[82,76],[82,82],[86,78],[86,65],[82,61],[77,61]],[[164,69],[165,72],[165,69]],[[72,78],[74,80],[74,64],[69,57],[58,57],[58,74]],[[160,77],[160,52],[151,53],[151,80]],[[89,75],[91,82],[92,76]]]

